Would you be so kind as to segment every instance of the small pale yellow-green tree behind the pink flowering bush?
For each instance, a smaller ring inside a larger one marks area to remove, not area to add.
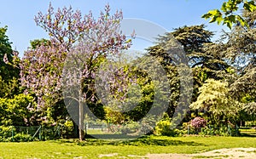
[[[199,92],[200,95],[190,108],[208,111],[215,122],[219,123],[221,116],[232,119],[240,109],[237,102],[230,97],[226,82],[208,79],[199,88]]]

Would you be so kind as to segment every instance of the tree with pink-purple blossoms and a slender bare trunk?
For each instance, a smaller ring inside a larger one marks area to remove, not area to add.
[[[20,63],[21,82],[36,94],[38,107],[45,108],[63,99],[63,66],[73,65],[72,60],[75,65],[82,65],[79,67],[79,139],[84,139],[82,102],[95,97],[91,86],[97,67],[109,54],[130,47],[130,41],[126,42],[125,36],[118,32],[120,20],[122,12],[110,15],[108,5],[97,20],[91,12],[82,17],[79,10],[73,11],[71,7],[54,12],[51,4],[47,14],[39,12],[35,16],[36,24],[49,33],[49,43],[39,43],[25,52]],[[65,61],[67,54],[73,58]],[[65,79],[73,76],[72,71],[66,70]]]

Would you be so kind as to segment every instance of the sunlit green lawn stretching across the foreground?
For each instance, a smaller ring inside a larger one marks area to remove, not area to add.
[[[144,156],[148,153],[191,154],[223,148],[254,147],[256,138],[250,137],[157,137],[148,136],[130,141],[87,139],[79,142],[72,139],[20,143],[0,143],[0,158],[98,158],[102,154],[116,156],[102,158],[126,158]]]

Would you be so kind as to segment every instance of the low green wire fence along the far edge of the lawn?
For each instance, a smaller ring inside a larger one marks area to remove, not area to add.
[[[137,133],[140,128],[136,126],[131,126],[127,128],[127,125],[118,125],[111,123],[84,123],[84,133],[86,134],[117,134],[117,133]],[[69,132],[69,137],[75,137],[78,134],[78,128],[73,128],[73,132]],[[166,132],[163,133],[167,136],[180,136],[180,135],[193,135],[193,134],[202,134],[202,135],[221,135],[221,136],[239,136],[241,133],[248,133],[256,135],[256,128],[247,127],[240,128],[224,126],[224,127],[214,127],[212,125],[207,125],[205,128],[193,128],[191,126],[187,127],[177,127],[175,129],[166,129]],[[20,127],[20,126],[9,126],[3,127],[0,126],[0,141],[33,141],[33,140],[49,140],[49,139],[60,139],[65,138],[63,135],[63,130],[61,127],[45,127],[45,126],[32,126],[32,127]],[[67,137],[67,136],[66,136]]]

